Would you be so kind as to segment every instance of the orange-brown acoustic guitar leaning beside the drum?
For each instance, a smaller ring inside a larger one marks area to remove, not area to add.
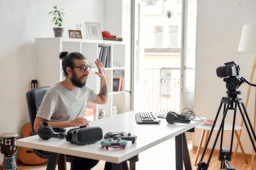
[[[23,138],[31,136],[30,123],[26,123],[22,127],[22,136],[23,136]],[[19,147],[18,157],[19,157],[20,161],[22,161],[24,164],[30,164],[30,165],[42,164],[47,161],[47,159],[42,159],[42,158],[38,157],[34,153],[34,150],[29,147]]]

